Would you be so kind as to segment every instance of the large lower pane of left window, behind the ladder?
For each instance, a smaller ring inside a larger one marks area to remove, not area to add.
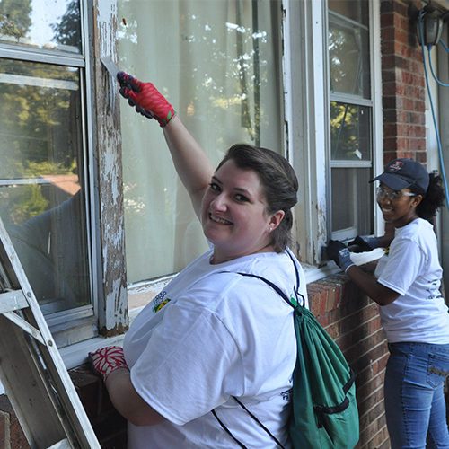
[[[0,59],[0,215],[44,313],[91,302],[79,77]]]

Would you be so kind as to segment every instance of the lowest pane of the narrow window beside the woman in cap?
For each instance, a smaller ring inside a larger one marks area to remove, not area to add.
[[[371,169],[332,169],[332,238],[373,233]]]

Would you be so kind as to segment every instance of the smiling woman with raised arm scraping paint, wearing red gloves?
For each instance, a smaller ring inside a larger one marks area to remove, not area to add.
[[[118,78],[130,104],[163,127],[212,245],[137,316],[124,354],[116,347],[90,354],[128,419],[128,447],[290,447],[293,308],[240,273],[268,278],[306,303],[303,270],[287,248],[295,172],[279,154],[251,145],[233,145],[214,171],[153,84]]]

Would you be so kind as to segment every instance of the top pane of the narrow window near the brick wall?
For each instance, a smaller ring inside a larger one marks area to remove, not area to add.
[[[330,92],[371,98],[367,29],[330,14],[329,57]]]

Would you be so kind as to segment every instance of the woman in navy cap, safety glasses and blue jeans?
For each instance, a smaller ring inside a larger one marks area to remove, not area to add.
[[[411,159],[392,161],[374,180],[380,181],[377,203],[394,235],[358,236],[348,247],[359,252],[389,246],[375,276],[354,265],[342,242],[330,241],[328,254],[381,306],[390,349],[384,404],[392,449],[447,449],[449,313],[432,225],[445,200],[442,180]]]

